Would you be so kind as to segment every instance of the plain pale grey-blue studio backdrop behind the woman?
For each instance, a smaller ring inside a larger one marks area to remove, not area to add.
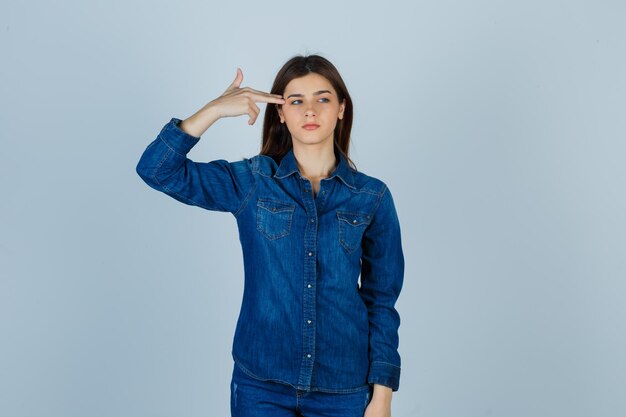
[[[401,221],[393,415],[626,415],[625,21],[618,0],[3,1],[0,415],[229,415],[235,219],[135,166],[238,66],[268,91],[309,53]],[[258,153],[247,120],[189,157]]]

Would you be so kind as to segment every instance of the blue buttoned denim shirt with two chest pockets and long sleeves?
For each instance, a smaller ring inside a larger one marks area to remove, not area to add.
[[[172,118],[148,145],[137,173],[185,204],[234,215],[244,293],[232,355],[253,377],[301,390],[398,390],[404,256],[387,186],[353,170],[311,183],[293,150],[280,164],[256,155],[194,162],[200,138]]]

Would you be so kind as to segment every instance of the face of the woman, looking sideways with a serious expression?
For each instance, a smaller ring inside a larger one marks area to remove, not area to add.
[[[337,93],[323,76],[311,72],[294,78],[283,93],[285,104],[278,108],[281,123],[287,124],[294,145],[324,145],[330,142],[337,120],[343,118],[345,100],[339,103]],[[315,126],[306,126],[314,124]]]

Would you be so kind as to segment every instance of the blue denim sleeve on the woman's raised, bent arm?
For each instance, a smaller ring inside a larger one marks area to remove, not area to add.
[[[187,153],[200,140],[183,131],[172,118],[145,149],[137,174],[152,188],[185,204],[235,216],[254,187],[252,160],[194,162]]]

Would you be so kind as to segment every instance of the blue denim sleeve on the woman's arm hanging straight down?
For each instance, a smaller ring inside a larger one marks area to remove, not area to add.
[[[369,384],[397,391],[400,385],[398,328],[395,303],[404,279],[400,223],[391,192],[385,187],[363,237],[360,294],[369,319]]]

